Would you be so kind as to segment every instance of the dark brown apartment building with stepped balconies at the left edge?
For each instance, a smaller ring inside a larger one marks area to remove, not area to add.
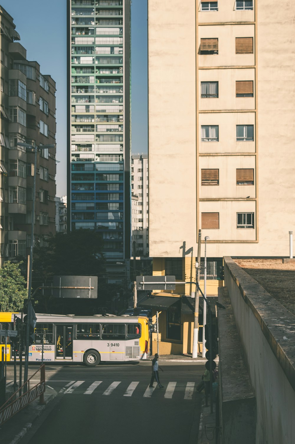
[[[13,18],[0,7],[0,264],[31,246],[35,154],[55,145],[55,81],[26,58]],[[34,242],[55,234],[55,148],[37,155]]]

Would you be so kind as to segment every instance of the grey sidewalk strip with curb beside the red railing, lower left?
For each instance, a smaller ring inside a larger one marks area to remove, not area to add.
[[[7,387],[8,396],[13,394],[12,387]],[[31,428],[32,424],[39,418],[47,404],[52,401],[57,392],[51,387],[46,386],[44,393],[44,404],[39,404],[39,398],[36,398],[27,407],[20,410],[7,422],[0,426],[0,442],[1,444],[17,444]]]

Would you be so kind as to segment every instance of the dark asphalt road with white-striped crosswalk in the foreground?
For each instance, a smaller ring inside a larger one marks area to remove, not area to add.
[[[151,364],[48,365],[58,395],[21,444],[196,443],[204,364],[162,363],[164,389],[149,389]],[[30,366],[33,373],[36,367]]]

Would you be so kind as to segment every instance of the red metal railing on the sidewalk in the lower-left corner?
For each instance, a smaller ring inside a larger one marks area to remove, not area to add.
[[[30,380],[35,376],[36,373],[40,372],[40,382],[30,388]],[[22,389],[27,386],[28,390],[22,395],[17,396],[17,394],[22,393]],[[13,395],[8,398],[8,400],[0,408],[0,425],[10,419],[13,415],[19,412],[22,408],[26,407],[33,400],[39,396],[39,403],[44,404],[44,392],[45,392],[45,364],[41,367],[26,381]]]

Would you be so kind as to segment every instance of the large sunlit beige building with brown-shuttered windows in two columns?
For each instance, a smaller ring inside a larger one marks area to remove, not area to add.
[[[173,259],[181,280],[194,280],[199,229],[202,242],[209,236],[207,257],[217,270],[208,294],[222,282],[223,256],[288,256],[295,229],[294,19],[290,2],[149,0],[154,274],[168,274]],[[185,287],[177,293],[194,290]],[[181,332],[179,344],[183,338]],[[166,334],[163,342],[163,350],[172,349]]]

